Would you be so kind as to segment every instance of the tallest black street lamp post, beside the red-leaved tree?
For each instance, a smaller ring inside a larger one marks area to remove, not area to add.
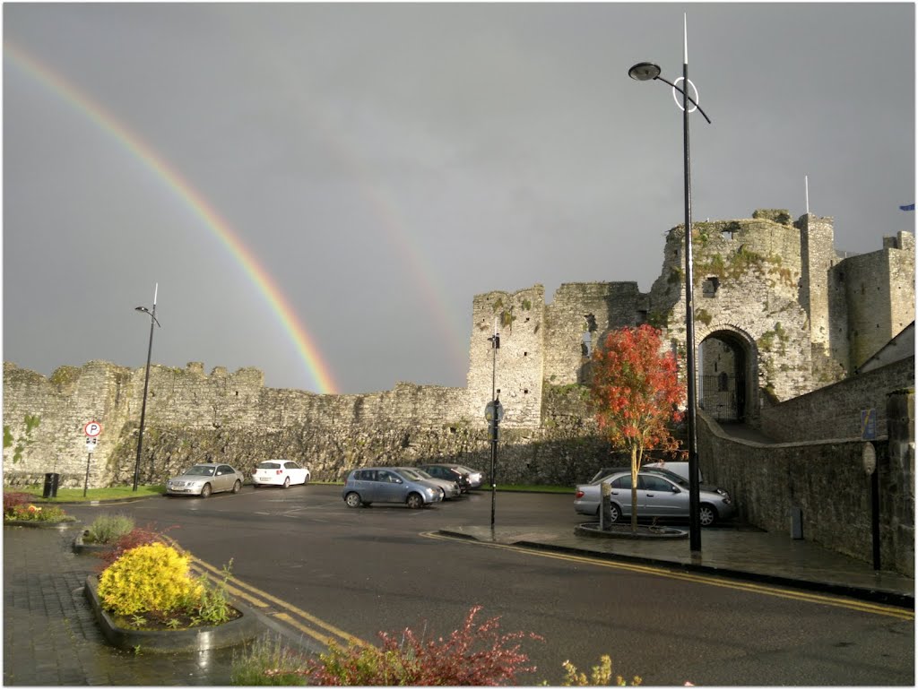
[[[697,405],[698,391],[695,375],[695,302],[692,296],[692,243],[691,243],[691,157],[689,156],[689,113],[696,109],[711,124],[711,118],[698,105],[698,89],[689,82],[689,32],[687,24],[683,23],[683,61],[682,82],[679,87],[676,83],[666,81],[660,76],[660,67],[653,62],[639,62],[628,70],[628,76],[639,82],[652,82],[659,80],[673,87],[673,97],[676,91],[682,95],[682,138],[684,141],[683,164],[685,170],[685,262],[686,262],[686,375],[688,378],[689,400],[687,415],[687,432],[689,435],[689,548],[691,551],[701,551],[701,522],[700,522],[700,496],[698,479],[698,434],[697,434]],[[689,96],[688,85],[695,92],[695,98]],[[676,101],[678,105],[678,100]],[[689,110],[689,103],[693,106]]]

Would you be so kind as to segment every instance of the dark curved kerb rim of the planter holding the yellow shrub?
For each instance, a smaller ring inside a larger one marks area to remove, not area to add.
[[[249,607],[233,602],[241,613],[240,618],[218,626],[202,626],[185,630],[133,630],[119,628],[114,619],[102,608],[98,592],[99,580],[95,575],[86,577],[84,591],[95,619],[102,627],[109,644],[122,650],[141,651],[204,651],[230,647],[246,640],[252,640],[262,630],[261,623]]]

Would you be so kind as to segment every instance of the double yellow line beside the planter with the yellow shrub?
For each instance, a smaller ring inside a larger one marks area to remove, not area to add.
[[[171,537],[165,537],[165,539],[174,547],[182,549],[179,543]],[[295,607],[293,604],[285,602],[283,599],[274,595],[269,595],[267,592],[263,592],[257,587],[252,586],[252,584],[244,583],[238,577],[233,577],[232,575],[227,577],[224,570],[208,562],[202,561],[196,558],[196,556],[188,554],[184,549],[182,549],[182,551],[190,557],[191,570],[194,573],[197,575],[206,574],[207,577],[218,582],[224,581],[225,578],[226,589],[229,595],[240,599],[263,616],[283,621],[290,628],[304,635],[308,635],[308,637],[319,641],[325,646],[332,643],[339,647],[346,647],[349,644],[356,644],[364,647],[369,646],[368,642],[356,638],[330,623],[326,623],[324,620],[313,616],[308,611]]]

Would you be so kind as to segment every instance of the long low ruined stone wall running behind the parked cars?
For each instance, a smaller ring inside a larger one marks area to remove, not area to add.
[[[103,433],[89,485],[132,482],[142,368],[90,362],[49,380],[7,364],[4,373],[6,485],[41,484],[44,473],[57,472],[62,486],[83,486],[91,420]],[[140,482],[162,484],[195,462],[229,462],[250,474],[277,457],[305,462],[314,478],[331,481],[366,464],[490,469],[487,427],[482,414],[469,416],[465,389],[401,383],[375,394],[315,395],[264,388],[262,378],[253,369],[206,375],[198,362],[151,367]],[[543,426],[501,427],[498,482],[575,484],[606,464],[609,445],[595,435],[585,395],[582,386],[552,387],[540,406]]]

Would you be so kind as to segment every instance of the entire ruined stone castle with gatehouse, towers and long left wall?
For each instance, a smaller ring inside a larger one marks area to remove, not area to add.
[[[776,440],[853,440],[856,420],[833,417],[832,409],[848,395],[835,386],[854,390],[848,382],[858,381],[866,392],[849,404],[877,408],[879,438],[885,439],[886,395],[912,386],[913,352],[904,364],[899,358],[877,372],[855,374],[912,325],[913,235],[900,232],[876,251],[843,256],[834,248],[831,217],[808,214],[793,222],[781,210],[700,222],[694,232],[705,428],[711,421],[744,421]],[[378,393],[316,395],[265,388],[257,369],[229,373],[217,367],[207,374],[198,362],[185,369],[154,365],[140,480],[162,483],[193,462],[229,462],[251,473],[270,457],[302,460],[314,478],[325,480],[364,463],[456,461],[487,468],[484,409],[494,376],[506,412],[498,481],[583,481],[607,463],[610,451],[585,403],[590,351],[610,329],[643,323],[663,329],[673,351],[685,351],[683,250],[684,228],[677,226],[668,233],[662,271],[649,293],[621,282],[562,284],[551,302],[542,285],[476,295],[465,388],[399,383]],[[495,367],[488,338],[496,324],[501,347]],[[62,366],[46,378],[5,362],[4,483],[40,483],[44,473],[57,472],[62,485],[83,486],[87,460],[91,486],[130,483],[143,373],[88,362]],[[812,402],[812,395],[830,390]],[[793,417],[803,399],[811,400],[807,422]],[[823,408],[828,412],[811,428],[812,415]],[[87,459],[84,425],[90,420],[104,430]],[[913,419],[909,424],[904,428],[911,440],[905,440],[900,464],[910,486]],[[701,447],[706,443],[702,439]],[[748,454],[739,453],[736,462]],[[732,476],[720,464],[729,455],[720,447],[716,459],[700,454],[702,470],[713,481]],[[753,481],[744,474],[744,484]],[[744,495],[743,486],[726,488]],[[913,538],[913,495],[902,504],[897,525],[911,524]],[[759,523],[770,529],[780,519],[762,516]]]

